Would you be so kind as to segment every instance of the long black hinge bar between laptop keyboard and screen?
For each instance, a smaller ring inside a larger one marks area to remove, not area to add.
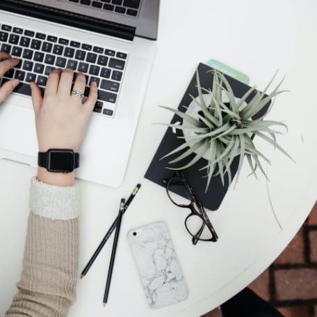
[[[51,8],[23,0],[0,0],[0,10],[36,17],[45,21],[66,24],[79,29],[101,33],[124,40],[133,40],[136,28],[111,21],[101,20],[88,15],[81,15],[66,10]]]

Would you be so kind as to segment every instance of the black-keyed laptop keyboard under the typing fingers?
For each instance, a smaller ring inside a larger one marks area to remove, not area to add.
[[[86,85],[97,83],[98,100],[93,111],[104,116],[115,114],[127,53],[13,25],[0,26],[0,51],[20,59],[19,65],[3,75],[2,84],[17,78],[21,84],[14,92],[31,96],[30,82],[36,82],[44,92],[52,70],[71,68],[83,72]],[[88,93],[89,86],[86,86],[84,95]]]

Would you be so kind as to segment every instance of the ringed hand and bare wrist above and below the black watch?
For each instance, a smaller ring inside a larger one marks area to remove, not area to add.
[[[35,125],[40,152],[49,148],[68,148],[78,151],[86,127],[97,100],[97,84],[92,82],[86,102],[72,94],[74,72],[70,69],[56,69],[47,79],[44,98],[40,88],[31,83]],[[77,73],[74,91],[83,93],[86,77]],[[74,183],[74,173],[50,173],[39,167],[38,179],[52,185],[68,186]]]

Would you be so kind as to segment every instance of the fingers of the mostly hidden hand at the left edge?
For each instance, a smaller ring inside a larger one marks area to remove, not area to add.
[[[19,59],[13,59],[9,54],[0,52],[0,78],[18,63]],[[0,104],[8,98],[18,84],[18,79],[11,79],[0,87]]]

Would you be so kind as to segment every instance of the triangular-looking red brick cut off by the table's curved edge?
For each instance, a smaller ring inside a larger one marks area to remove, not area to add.
[[[300,229],[290,244],[279,255],[275,263],[304,263],[304,236],[303,229]]]

